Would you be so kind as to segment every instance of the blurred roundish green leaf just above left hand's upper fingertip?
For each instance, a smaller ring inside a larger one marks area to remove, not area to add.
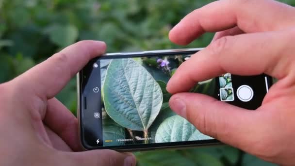
[[[56,24],[48,29],[50,40],[59,47],[66,47],[73,44],[78,38],[78,29],[70,24]]]

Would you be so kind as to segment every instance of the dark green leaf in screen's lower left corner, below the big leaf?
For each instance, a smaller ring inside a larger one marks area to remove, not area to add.
[[[110,117],[105,117],[102,121],[103,125],[103,145],[105,146],[118,146],[124,145],[124,141],[117,141],[117,139],[125,139],[125,129],[118,125]],[[112,140],[112,142],[106,142]]]

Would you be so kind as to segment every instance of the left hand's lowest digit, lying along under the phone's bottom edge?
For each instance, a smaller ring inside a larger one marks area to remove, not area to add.
[[[90,150],[66,152],[71,166],[135,166],[132,153],[119,153],[114,150]]]

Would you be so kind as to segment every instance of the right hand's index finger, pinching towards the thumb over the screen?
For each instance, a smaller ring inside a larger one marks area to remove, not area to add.
[[[198,51],[177,69],[167,83],[169,93],[189,90],[195,83],[223,73],[282,79],[291,71],[294,48],[292,31],[250,33],[222,37]]]

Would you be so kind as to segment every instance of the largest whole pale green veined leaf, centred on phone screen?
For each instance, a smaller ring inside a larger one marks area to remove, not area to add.
[[[163,102],[159,84],[133,59],[112,60],[102,93],[108,115],[135,131],[148,131]]]

